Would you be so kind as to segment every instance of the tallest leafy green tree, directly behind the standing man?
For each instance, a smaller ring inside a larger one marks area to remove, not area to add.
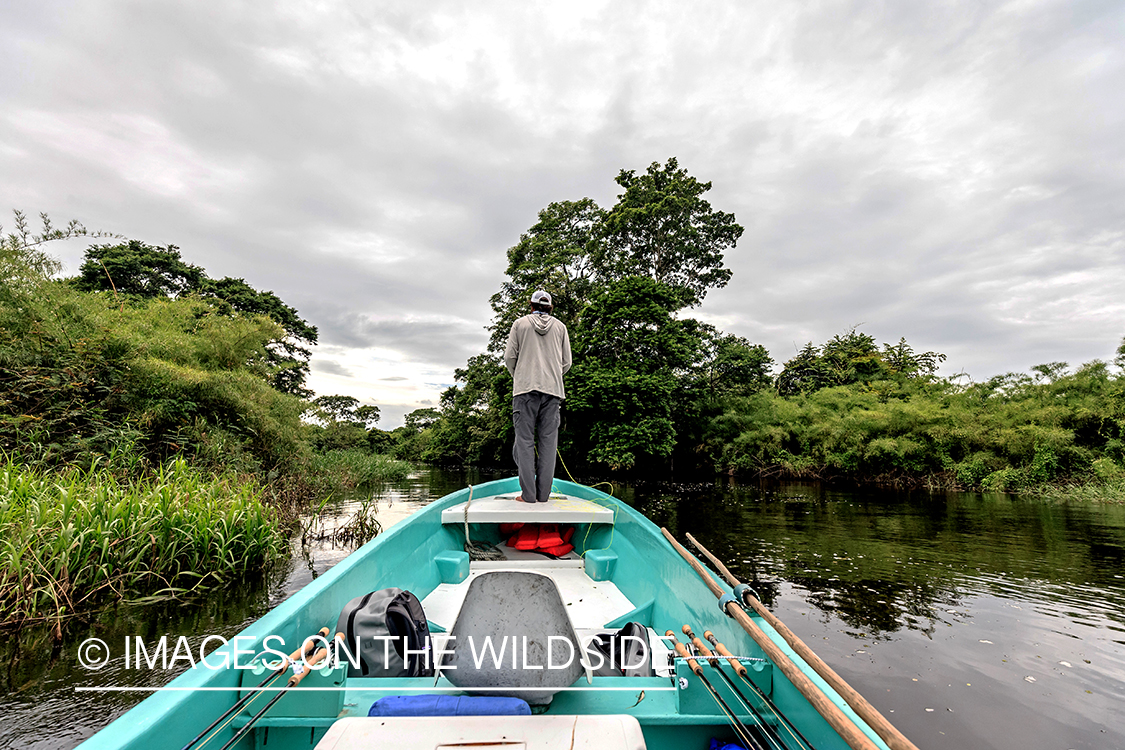
[[[507,251],[507,278],[490,300],[490,354],[471,359],[443,395],[424,442],[431,455],[504,458],[511,378],[498,358],[539,288],[570,329],[562,444],[576,463],[666,461],[685,415],[702,413],[700,399],[768,381],[765,350],[682,316],[730,279],[724,253],[742,233],[704,200],[711,183],[675,159],[640,174],[623,170],[616,182],[611,208],[590,198],[552,202]]]

